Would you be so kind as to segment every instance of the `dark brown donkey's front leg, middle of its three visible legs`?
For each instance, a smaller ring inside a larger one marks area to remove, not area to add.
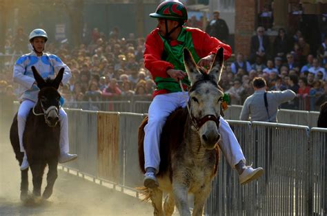
[[[35,197],[41,197],[41,184],[45,168],[46,162],[41,160],[34,161],[30,164],[30,170],[32,171],[33,195]]]

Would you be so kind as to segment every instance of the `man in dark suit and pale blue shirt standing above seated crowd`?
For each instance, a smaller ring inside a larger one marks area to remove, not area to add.
[[[266,62],[266,59],[270,58],[270,42],[267,35],[264,34],[264,27],[259,26],[257,28],[257,34],[251,38],[250,47],[250,61],[255,62],[256,56],[261,56]]]

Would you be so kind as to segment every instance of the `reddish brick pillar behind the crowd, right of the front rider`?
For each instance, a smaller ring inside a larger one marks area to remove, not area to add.
[[[257,17],[256,0],[235,1],[235,50],[246,56],[250,54],[250,40],[255,31]]]

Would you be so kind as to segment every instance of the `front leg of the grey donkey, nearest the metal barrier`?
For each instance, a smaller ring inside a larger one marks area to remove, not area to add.
[[[210,182],[206,183],[197,193],[194,194],[194,208],[192,215],[203,215],[204,205],[210,194],[211,186]]]

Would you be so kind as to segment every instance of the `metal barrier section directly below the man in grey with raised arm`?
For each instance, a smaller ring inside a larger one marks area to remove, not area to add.
[[[252,122],[255,158],[265,169],[257,182],[257,210],[253,215],[311,215],[308,131],[308,127],[298,125]]]

